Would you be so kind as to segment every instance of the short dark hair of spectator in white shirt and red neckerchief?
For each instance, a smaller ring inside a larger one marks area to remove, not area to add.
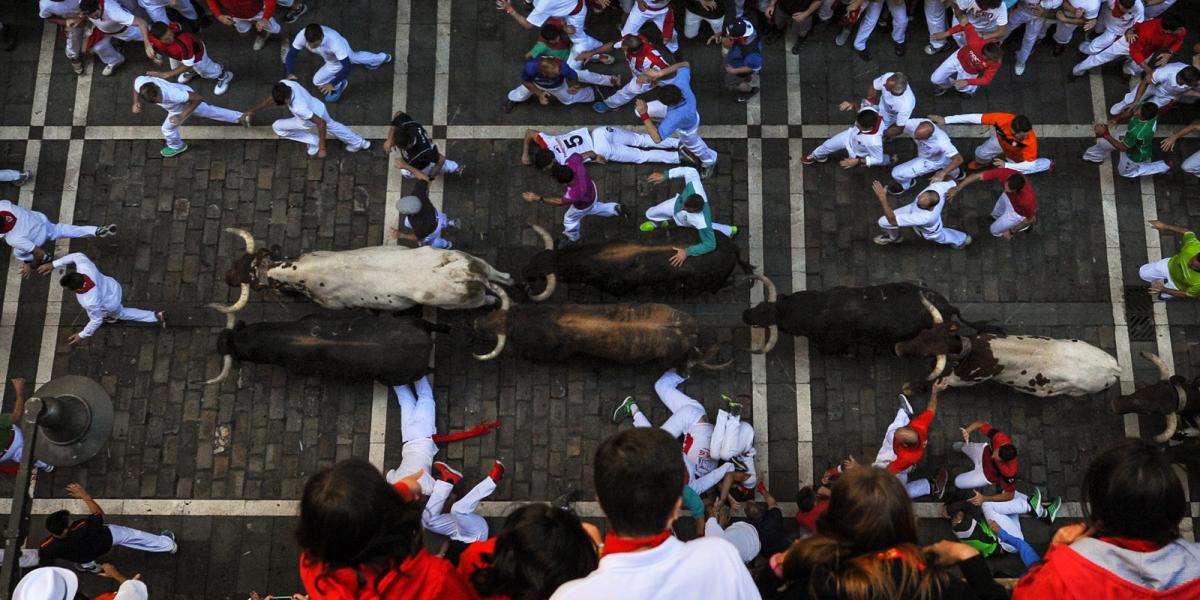
[[[667,527],[686,476],[671,434],[658,427],[625,430],[600,443],[592,463],[596,499],[613,532],[632,538]]]

